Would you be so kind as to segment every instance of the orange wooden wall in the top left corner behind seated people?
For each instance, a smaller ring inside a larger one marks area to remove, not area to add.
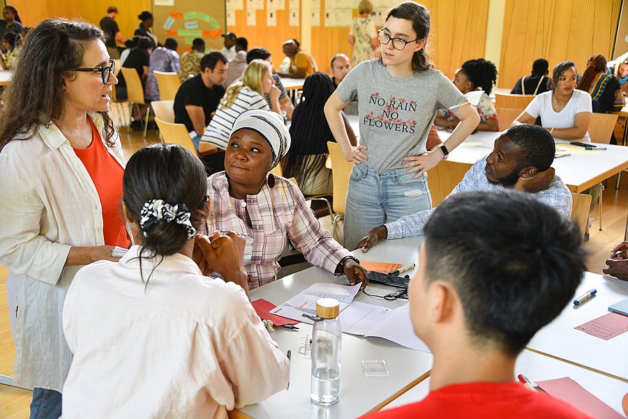
[[[116,22],[127,38],[133,37],[135,28],[140,24],[137,15],[142,10],[151,10],[150,0],[10,0],[8,4],[17,8],[25,26],[34,26],[50,17],[82,18],[98,24],[107,14],[107,7],[116,6],[119,10]]]

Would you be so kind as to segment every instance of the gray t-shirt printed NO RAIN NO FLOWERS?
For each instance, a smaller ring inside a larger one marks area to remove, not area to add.
[[[461,91],[438,70],[399,79],[381,60],[359,63],[338,85],[344,102],[358,101],[360,144],[368,147],[372,170],[401,169],[403,158],[424,153],[438,109],[456,111],[465,102]]]

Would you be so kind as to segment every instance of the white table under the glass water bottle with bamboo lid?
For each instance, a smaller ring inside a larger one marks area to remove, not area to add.
[[[384,241],[368,252],[354,252],[364,260],[396,261],[401,264],[418,263],[420,238],[405,238]],[[410,273],[412,275],[412,273]],[[251,299],[264,298],[281,304],[316,282],[345,284],[345,277],[334,277],[320,268],[289,275],[251,291]],[[382,285],[369,285],[369,294],[388,294],[394,289]],[[384,307],[401,307],[405,300],[386,301],[359,293],[355,300]],[[430,353],[404,348],[387,340],[364,338],[343,333],[341,399],[338,404],[327,408],[310,402],[311,359],[299,353],[299,340],[309,335],[312,327],[304,323],[299,330],[280,329],[272,333],[282,351],[292,351],[290,388],[282,390],[264,402],[246,406],[230,413],[231,418],[357,418],[369,411],[380,409],[397,395],[425,379],[432,366]],[[362,360],[386,360],[390,377],[366,379]]]

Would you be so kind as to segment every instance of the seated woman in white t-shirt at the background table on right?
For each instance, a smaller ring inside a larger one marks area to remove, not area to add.
[[[552,90],[536,96],[512,125],[534,123],[541,116],[541,125],[554,138],[590,142],[589,123],[592,115],[591,96],[576,89],[578,70],[572,61],[563,61],[552,72]]]

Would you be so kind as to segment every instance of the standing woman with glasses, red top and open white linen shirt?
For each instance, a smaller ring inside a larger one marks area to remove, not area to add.
[[[59,418],[71,353],[61,309],[75,273],[117,260],[124,157],[110,116],[117,79],[97,26],[44,20],[26,38],[0,110],[0,263],[18,386],[31,418]]]

